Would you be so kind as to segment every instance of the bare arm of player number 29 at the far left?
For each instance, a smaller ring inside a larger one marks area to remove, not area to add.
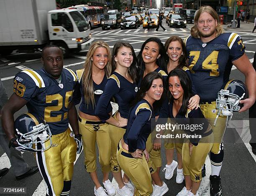
[[[28,101],[13,93],[2,108],[2,126],[9,141],[15,137],[13,115],[25,106],[26,103]]]

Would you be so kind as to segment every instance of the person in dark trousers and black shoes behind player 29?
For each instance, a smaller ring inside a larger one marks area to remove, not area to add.
[[[1,110],[3,108],[3,105],[8,101],[8,95],[7,95],[5,86],[2,83],[2,80],[0,80],[0,92],[2,92],[0,95],[0,110]],[[14,168],[14,173],[17,180],[21,180],[23,178],[26,178],[27,176],[31,176],[34,173],[39,171],[37,166],[33,166],[33,167],[28,166],[26,161],[23,159],[23,156],[20,153],[20,151],[17,151],[14,148],[9,148],[9,140],[5,135],[5,132],[3,131],[3,128],[1,125],[1,115],[0,115],[0,145],[2,146],[3,150],[5,151],[8,158],[10,159],[10,163]],[[2,171],[0,172],[0,178],[1,176],[5,175],[4,171],[5,172],[7,171],[6,168],[2,169]]]

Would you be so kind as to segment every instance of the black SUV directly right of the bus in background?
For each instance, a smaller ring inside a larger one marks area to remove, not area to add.
[[[101,21],[102,30],[110,29],[110,28],[119,28],[121,20],[122,19],[121,19],[120,13],[105,14],[103,20]]]

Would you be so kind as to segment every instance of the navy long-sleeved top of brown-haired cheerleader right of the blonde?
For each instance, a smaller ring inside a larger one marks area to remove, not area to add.
[[[114,98],[115,103],[118,104],[120,116],[128,118],[131,102],[134,100],[137,92],[138,85],[136,83],[131,83],[114,71],[108,78],[104,92],[97,103],[95,111],[97,116],[102,121],[106,121],[110,118],[106,108],[111,98]]]

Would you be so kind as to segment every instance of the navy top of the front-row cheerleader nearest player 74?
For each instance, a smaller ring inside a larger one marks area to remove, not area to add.
[[[173,116],[173,101],[167,101],[165,100],[161,110],[160,110],[160,115],[159,119],[157,121],[158,124],[164,124],[166,123],[167,118],[172,118],[174,121],[177,119],[177,123],[182,123],[182,124],[201,124],[202,129],[197,129],[195,131],[186,131],[187,134],[197,134],[201,135],[202,137],[206,137],[212,133],[212,130],[209,131],[209,123],[205,119],[205,116],[202,114],[202,111],[199,108],[197,110],[194,108],[193,110],[187,109],[187,113],[184,115],[181,113],[179,110],[177,115],[174,117]],[[197,120],[198,118],[198,120]],[[197,143],[200,141],[200,138],[193,138],[190,139],[190,141],[197,146]]]

